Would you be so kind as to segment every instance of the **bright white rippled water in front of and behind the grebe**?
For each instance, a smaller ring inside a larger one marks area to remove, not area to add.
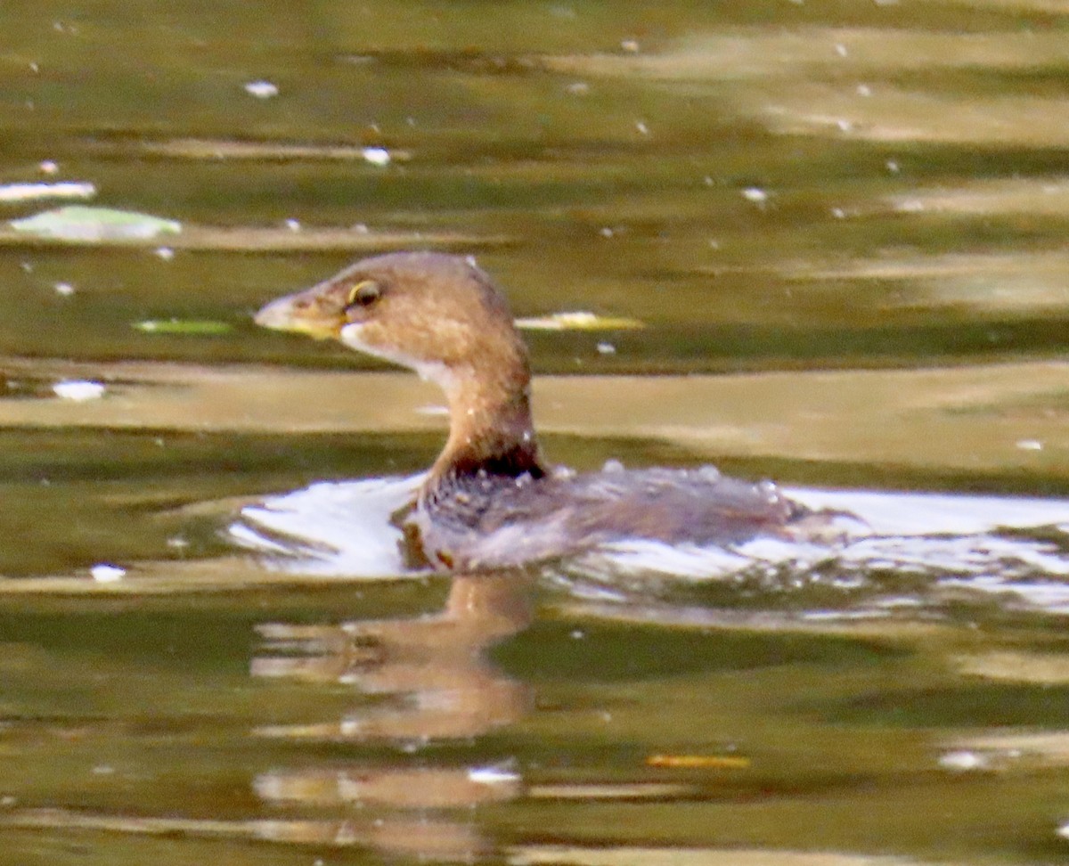
[[[421,575],[406,566],[393,514],[423,476],[322,482],[243,509],[232,541],[265,556],[267,568],[348,578]],[[933,587],[1009,593],[1050,613],[1069,613],[1069,500],[879,491],[793,489],[814,509],[849,512],[834,543],[757,538],[724,545],[669,545],[646,539],[604,544],[569,560],[575,573],[682,582],[741,574],[791,575],[801,587],[818,569],[833,585],[866,574],[930,575]],[[1042,529],[1039,537],[1027,530]],[[1062,539],[1064,537],[1064,539]],[[786,577],[785,577],[786,575]]]

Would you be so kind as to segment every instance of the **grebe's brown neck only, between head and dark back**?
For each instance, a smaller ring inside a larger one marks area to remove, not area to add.
[[[470,370],[451,371],[446,384],[449,440],[431,469],[424,491],[480,470],[510,478],[525,473],[534,478],[544,476],[529,391],[526,365],[493,371],[490,377]]]

